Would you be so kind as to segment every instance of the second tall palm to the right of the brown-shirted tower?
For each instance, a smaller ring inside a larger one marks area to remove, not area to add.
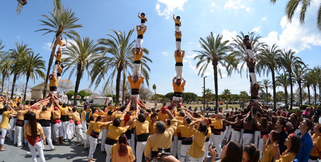
[[[281,52],[281,58],[278,60],[279,69],[283,69],[286,72],[290,79],[290,110],[292,110],[293,104],[293,81],[292,81],[292,67],[295,65],[305,65],[300,57],[294,56],[295,52],[291,49],[286,51],[285,49]]]

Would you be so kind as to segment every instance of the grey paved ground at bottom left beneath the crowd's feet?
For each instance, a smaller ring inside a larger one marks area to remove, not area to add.
[[[13,120],[10,120],[10,125],[12,125]],[[65,142],[65,144],[60,144],[60,146],[55,146],[56,150],[51,151],[49,146],[45,146],[44,155],[46,161],[48,162],[85,162],[87,161],[87,156],[89,154],[89,150],[84,150],[83,146],[78,146],[74,141],[70,143]],[[98,142],[101,141],[101,133]],[[7,138],[4,141],[4,147],[7,149],[6,151],[0,152],[0,161],[4,162],[16,162],[16,161],[31,161],[31,153],[28,145],[23,147],[16,147],[13,145],[13,141],[10,141],[10,138]],[[209,155],[211,155],[209,153]],[[106,160],[106,153],[100,152],[100,145],[97,145],[97,148],[94,153],[94,158],[97,158],[98,162],[103,162]],[[208,158],[207,161],[211,161],[211,157]],[[37,153],[37,160],[40,161],[40,158]],[[220,160],[217,160],[219,162]]]

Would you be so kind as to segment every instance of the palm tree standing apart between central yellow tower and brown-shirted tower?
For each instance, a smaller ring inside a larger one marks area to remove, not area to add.
[[[208,65],[213,65],[214,70],[214,85],[215,85],[215,113],[217,113],[218,107],[218,85],[217,85],[217,73],[219,73],[222,78],[221,69],[218,67],[218,64],[221,64],[223,67],[231,68],[237,66],[236,60],[232,55],[228,55],[233,48],[228,45],[229,40],[222,40],[222,36],[217,35],[216,38],[211,34],[204,38],[200,38],[199,43],[203,50],[193,50],[194,52],[199,53],[199,55],[194,57],[194,60],[199,59],[196,64],[196,68],[199,69],[198,75],[201,74],[201,77],[204,76],[204,72],[207,69]],[[228,65],[226,65],[228,64]],[[230,74],[229,74],[230,75]]]

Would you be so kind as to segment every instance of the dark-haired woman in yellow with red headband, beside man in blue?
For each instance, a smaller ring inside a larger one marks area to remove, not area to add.
[[[274,162],[290,162],[294,160],[295,156],[300,151],[300,144],[301,142],[299,136],[294,133],[289,134],[288,138],[285,139],[284,145],[287,147],[287,149],[282,153],[282,155],[280,155],[279,153],[279,146],[277,144],[274,144]]]

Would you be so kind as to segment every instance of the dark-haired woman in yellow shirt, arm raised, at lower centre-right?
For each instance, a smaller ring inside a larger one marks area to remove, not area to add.
[[[207,119],[208,120],[208,119]],[[194,128],[194,125],[197,122],[202,122],[202,119],[198,119],[191,124],[189,124],[189,129],[194,135],[194,139],[192,142],[191,147],[188,150],[188,155],[191,157],[191,162],[198,162],[203,161],[204,158],[204,152],[205,152],[205,140],[206,136],[208,134],[207,126],[204,123],[201,123],[197,125],[196,129]],[[207,153],[207,152],[206,152]]]

